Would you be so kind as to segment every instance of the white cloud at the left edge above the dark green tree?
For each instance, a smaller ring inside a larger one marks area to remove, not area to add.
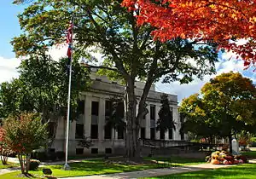
[[[16,69],[18,66],[20,66],[20,59],[5,59],[0,56],[0,83],[19,77]]]

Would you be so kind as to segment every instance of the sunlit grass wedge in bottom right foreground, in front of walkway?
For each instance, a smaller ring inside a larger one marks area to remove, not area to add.
[[[256,179],[256,164],[237,165],[229,168],[215,169],[215,170],[201,170],[189,173],[150,177],[156,178],[178,178],[178,179]]]

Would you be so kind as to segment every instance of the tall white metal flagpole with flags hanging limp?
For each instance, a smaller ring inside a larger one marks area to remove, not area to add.
[[[74,21],[74,14],[72,14],[71,26],[71,40],[69,40],[69,47],[71,49],[71,53],[69,56],[69,78],[68,78],[68,95],[67,95],[67,130],[66,130],[66,156],[65,156],[65,165],[63,166],[64,170],[70,170],[70,166],[67,164],[67,156],[68,156],[68,139],[69,139],[69,124],[70,124],[70,95],[71,95],[71,77],[72,77],[72,62],[73,62],[73,21]]]

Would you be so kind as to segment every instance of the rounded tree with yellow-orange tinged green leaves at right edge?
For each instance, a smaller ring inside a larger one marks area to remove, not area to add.
[[[232,136],[255,128],[255,99],[252,80],[228,72],[205,84],[201,95],[183,100],[179,110],[186,115],[187,130],[201,136],[228,137],[232,151]]]

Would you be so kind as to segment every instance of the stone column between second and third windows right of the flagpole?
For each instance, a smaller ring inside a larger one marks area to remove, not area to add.
[[[98,129],[99,129],[99,141],[103,141],[104,130],[105,130],[105,99],[104,98],[100,98],[100,101],[99,101]]]

